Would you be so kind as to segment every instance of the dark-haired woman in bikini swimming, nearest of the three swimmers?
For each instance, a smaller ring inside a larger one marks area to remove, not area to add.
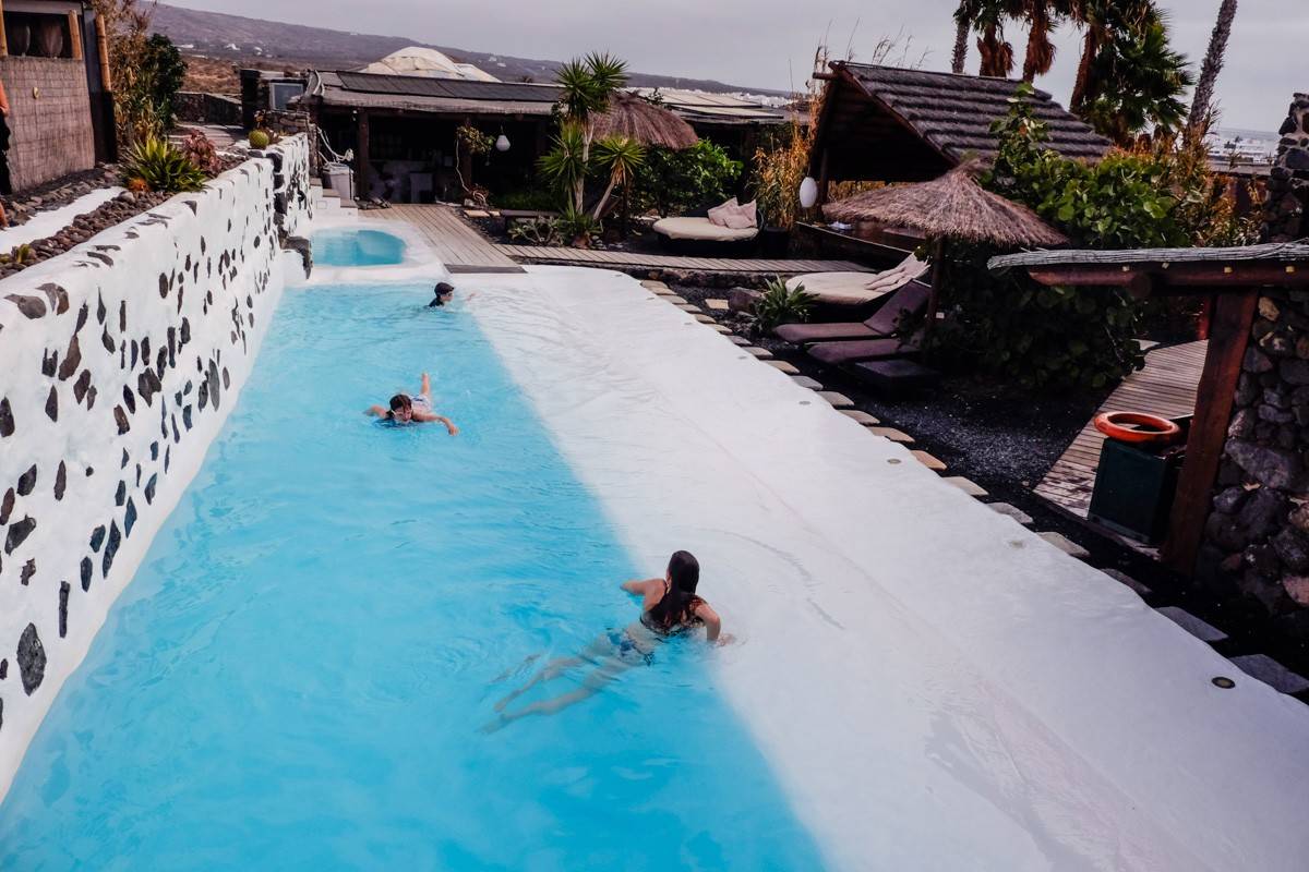
[[[624,582],[623,590],[641,597],[641,616],[622,630],[609,630],[596,637],[585,651],[572,658],[559,658],[547,663],[528,684],[500,699],[495,709],[500,716],[486,726],[486,731],[499,729],[526,715],[552,715],[560,709],[581,702],[634,665],[649,663],[654,647],[664,639],[704,626],[704,638],[715,645],[726,645],[732,637],[723,634],[723,621],[708,603],[695,595],[700,582],[700,563],[690,552],[677,552],[668,562],[664,578]],[[584,663],[594,664],[569,693],[533,702],[507,713],[505,707],[531,688],[556,679]]]

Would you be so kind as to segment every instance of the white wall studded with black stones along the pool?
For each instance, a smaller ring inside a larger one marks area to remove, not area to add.
[[[0,799],[254,362],[308,208],[270,152],[0,281]]]

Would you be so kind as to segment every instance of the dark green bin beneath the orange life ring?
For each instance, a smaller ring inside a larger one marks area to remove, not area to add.
[[[1162,448],[1105,439],[1086,512],[1090,520],[1145,545],[1162,541],[1191,425],[1190,416],[1172,420],[1181,425],[1182,437]]]

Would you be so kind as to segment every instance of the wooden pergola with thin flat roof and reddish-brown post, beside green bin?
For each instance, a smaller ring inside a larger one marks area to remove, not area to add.
[[[1124,288],[1139,299],[1183,294],[1212,297],[1208,353],[1168,537],[1161,549],[1165,565],[1192,575],[1259,293],[1268,288],[1309,286],[1309,244],[1033,251],[992,258],[987,265],[992,272],[1024,269],[1043,285]]]

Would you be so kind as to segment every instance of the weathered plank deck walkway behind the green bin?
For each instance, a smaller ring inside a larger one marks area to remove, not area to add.
[[[1166,418],[1191,414],[1207,350],[1208,343],[1199,341],[1151,352],[1145,356],[1145,369],[1123,379],[1100,412],[1149,412]],[[1088,421],[1035,492],[1060,509],[1085,518],[1103,441],[1103,434]]]

